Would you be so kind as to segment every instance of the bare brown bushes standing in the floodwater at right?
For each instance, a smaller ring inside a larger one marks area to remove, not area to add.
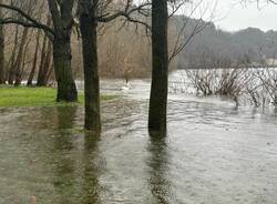
[[[260,69],[197,69],[181,74],[186,89],[193,88],[197,95],[219,95],[247,100],[254,106],[277,106],[277,70]],[[174,92],[176,92],[176,85]],[[182,92],[184,92],[184,85]]]

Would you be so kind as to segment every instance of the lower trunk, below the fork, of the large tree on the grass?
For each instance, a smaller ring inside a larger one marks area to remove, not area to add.
[[[75,102],[78,92],[71,69],[70,34],[65,38],[54,39],[53,61],[55,79],[58,82],[57,101]]]

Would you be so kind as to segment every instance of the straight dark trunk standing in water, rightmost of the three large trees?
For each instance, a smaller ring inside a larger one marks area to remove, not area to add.
[[[152,0],[152,85],[148,131],[151,135],[166,134],[168,49],[167,0]]]

